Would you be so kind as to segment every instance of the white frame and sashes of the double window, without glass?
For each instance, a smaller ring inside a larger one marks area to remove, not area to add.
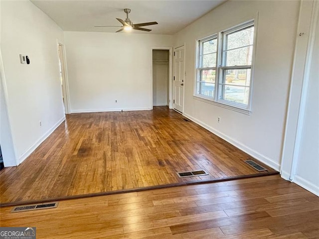
[[[225,57],[223,56],[223,49],[225,48],[226,41],[224,41],[224,36],[226,34],[247,28],[249,26],[254,26],[254,41],[253,41],[253,52],[252,52],[252,62],[251,65],[245,65],[245,66],[225,66],[223,64],[223,60]],[[217,53],[216,53],[216,68],[213,67],[215,70],[215,92],[214,92],[214,97],[207,97],[204,95],[199,94],[199,88],[198,86],[200,85],[199,82],[200,80],[200,72],[201,70],[205,69],[213,69],[213,68],[201,68],[200,64],[200,53],[202,51],[201,49],[201,43],[205,42],[210,39],[214,39],[217,36]],[[233,27],[227,28],[225,30],[219,31],[218,33],[215,33],[213,35],[210,35],[208,37],[199,39],[196,41],[196,76],[195,76],[195,87],[194,87],[194,98],[197,100],[201,100],[204,102],[208,102],[214,105],[218,105],[230,110],[234,110],[237,112],[242,112],[245,114],[250,114],[251,112],[251,102],[252,102],[252,88],[253,88],[253,75],[254,75],[254,61],[255,61],[255,54],[256,54],[256,42],[257,42],[257,20],[255,18],[252,18],[248,21],[242,22],[238,25],[235,25]],[[251,75],[250,75],[250,84],[249,84],[249,98],[248,98],[248,104],[240,104],[240,103],[235,103],[227,100],[221,99],[222,96],[222,87],[220,84],[223,84],[223,73],[224,71],[228,69],[251,69]]]

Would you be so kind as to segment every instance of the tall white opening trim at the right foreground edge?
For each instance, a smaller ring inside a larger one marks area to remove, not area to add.
[[[312,4],[312,7],[309,5]],[[307,7],[308,6],[308,7]],[[307,18],[309,20],[309,25]],[[302,1],[298,20],[298,34],[295,43],[294,63],[290,83],[288,107],[286,113],[286,125],[281,156],[281,177],[295,182],[304,187],[304,182],[298,181],[295,176],[298,170],[300,153],[300,143],[304,125],[305,109],[307,103],[307,91],[309,75],[311,72],[312,54],[314,51],[316,27],[319,18],[319,3],[317,1]],[[305,25],[306,24],[306,25]],[[304,29],[309,30],[307,34],[302,34]],[[305,40],[303,38],[307,37]],[[304,64],[296,64],[303,62]],[[302,76],[302,77],[300,77]],[[292,99],[295,99],[294,101]],[[294,135],[292,137],[291,135]],[[297,182],[296,182],[297,181]],[[307,185],[307,184],[306,184]],[[311,188],[305,187],[308,191]],[[315,193],[316,194],[316,193]]]

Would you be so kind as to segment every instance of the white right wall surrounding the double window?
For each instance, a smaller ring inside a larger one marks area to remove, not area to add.
[[[299,1],[226,1],[175,35],[185,43],[184,115],[280,169]],[[250,116],[193,98],[195,42],[258,12],[255,72]],[[221,122],[217,123],[217,117]]]

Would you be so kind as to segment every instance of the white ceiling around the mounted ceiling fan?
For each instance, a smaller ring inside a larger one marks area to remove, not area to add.
[[[133,23],[157,21],[147,26],[153,34],[174,34],[225,0],[31,0],[64,31],[115,32],[125,19],[124,8]],[[134,33],[147,33],[134,30]]]

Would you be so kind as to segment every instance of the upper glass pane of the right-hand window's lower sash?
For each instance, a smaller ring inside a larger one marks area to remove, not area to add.
[[[231,69],[224,71],[223,83],[234,86],[246,86],[250,85],[250,69]]]

